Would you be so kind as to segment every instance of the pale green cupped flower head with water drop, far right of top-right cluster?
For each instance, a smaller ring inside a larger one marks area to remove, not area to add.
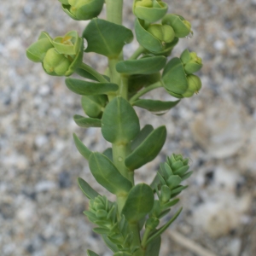
[[[190,22],[180,15],[166,15],[162,20],[162,24],[172,26],[177,38],[184,38],[190,32],[192,33]]]

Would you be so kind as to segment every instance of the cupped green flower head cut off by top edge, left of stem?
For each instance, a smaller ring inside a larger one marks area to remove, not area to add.
[[[73,20],[91,20],[102,11],[104,0],[59,0]]]

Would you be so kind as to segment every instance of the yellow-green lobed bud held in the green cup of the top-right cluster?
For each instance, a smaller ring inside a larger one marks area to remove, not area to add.
[[[148,26],[148,32],[150,32],[155,38],[158,38],[161,42],[171,43],[175,38],[175,33],[172,26],[153,24]]]

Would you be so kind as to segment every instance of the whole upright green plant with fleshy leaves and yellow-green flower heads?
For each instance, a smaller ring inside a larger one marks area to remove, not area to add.
[[[90,207],[84,214],[96,224],[94,231],[102,235],[114,256],[157,256],[161,234],[182,208],[158,228],[160,218],[177,204],[177,195],[186,189],[181,183],[192,172],[189,172],[188,159],[172,154],[160,165],[150,185],[135,185],[134,171],[160,153],[166,141],[166,126],[154,129],[152,125],[145,125],[141,129],[133,107],[165,113],[183,97],[193,96],[201,89],[201,80],[193,74],[201,69],[201,58],[194,52],[185,49],[180,58],[167,61],[179,38],[192,33],[191,25],[180,15],[166,15],[166,3],[135,0],[135,32],[140,46],[124,60],[123,47],[131,43],[133,33],[122,26],[123,0],[105,1],[107,20],[96,18],[102,10],[103,0],[59,1],[74,20],[90,20],[82,38],[75,31],[57,38],[42,32],[38,41],[26,50],[26,55],[32,61],[41,62],[45,73],[68,77],[67,87],[82,96],[82,108],[88,116],[74,115],[74,121],[84,128],[101,127],[102,136],[112,143],[112,148],[103,153],[91,152],[73,135],[96,181],[117,199],[108,201],[79,177],[79,187],[90,199]],[[161,23],[155,23],[158,20]],[[83,38],[88,44],[86,49]],[[106,73],[98,73],[85,64],[84,52],[85,55],[95,52],[106,56]],[[84,79],[69,78],[73,73]],[[160,87],[178,100],[161,102],[141,98]],[[88,250],[88,255],[97,254]]]

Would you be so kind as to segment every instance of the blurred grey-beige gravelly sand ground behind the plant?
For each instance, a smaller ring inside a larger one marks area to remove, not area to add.
[[[129,28],[131,2],[125,1],[124,9]],[[163,236],[160,255],[256,255],[256,1],[165,2],[169,13],[183,15],[194,30],[172,56],[189,48],[204,67],[198,95],[162,116],[137,108],[142,126],[166,124],[168,131],[160,155],[137,171],[137,183],[150,183],[172,153],[189,157],[195,171],[180,195],[177,207],[183,212]],[[91,150],[102,151],[108,143],[99,129],[75,125],[73,114],[83,113],[80,96],[67,90],[64,78],[49,77],[40,64],[26,59],[26,48],[41,31],[53,38],[70,30],[81,34],[86,24],[69,18],[58,1],[1,0],[1,256],[79,256],[88,248],[112,255],[83,214],[88,200],[76,178],[102,194],[105,190],[90,174],[72,133]],[[125,46],[125,55],[136,48],[134,40]],[[84,61],[99,72],[107,64],[91,53]],[[151,96],[171,98],[162,90]]]

